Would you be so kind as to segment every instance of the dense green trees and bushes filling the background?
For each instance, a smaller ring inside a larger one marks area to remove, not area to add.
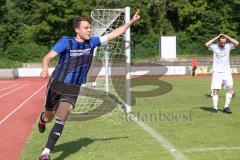
[[[177,53],[187,55],[210,54],[203,44],[219,33],[240,38],[239,0],[0,0],[1,58],[39,61],[61,36],[74,35],[75,17],[126,6],[141,9],[133,58],[158,56],[160,36],[177,36]]]

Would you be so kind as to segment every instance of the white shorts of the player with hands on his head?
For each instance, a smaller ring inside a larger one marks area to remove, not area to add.
[[[213,72],[211,89],[221,89],[233,86],[233,78],[230,72]]]

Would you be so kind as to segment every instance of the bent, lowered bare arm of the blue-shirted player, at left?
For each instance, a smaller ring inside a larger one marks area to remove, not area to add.
[[[51,59],[53,59],[54,57],[57,56],[57,53],[53,50],[51,50],[50,52],[48,52],[48,54],[46,54],[43,59],[42,59],[42,71],[40,73],[40,76],[42,78],[47,78],[48,77],[48,65]]]

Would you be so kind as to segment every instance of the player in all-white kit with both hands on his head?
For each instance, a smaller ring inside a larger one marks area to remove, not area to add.
[[[215,43],[217,41],[217,43]],[[227,43],[229,41],[229,43]],[[234,49],[239,42],[225,34],[219,34],[217,37],[209,40],[205,43],[205,46],[213,51],[213,72],[212,72],[212,84],[213,90],[213,112],[217,112],[218,109],[218,94],[219,90],[224,83],[227,88],[226,101],[224,105],[224,113],[232,113],[229,108],[230,101],[233,94],[233,78],[230,68],[230,51]]]

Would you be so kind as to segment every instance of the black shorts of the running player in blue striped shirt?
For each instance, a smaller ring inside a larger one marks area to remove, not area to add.
[[[67,102],[75,107],[79,90],[80,86],[66,85],[51,78],[46,92],[45,109],[47,111],[54,111],[60,102]]]

